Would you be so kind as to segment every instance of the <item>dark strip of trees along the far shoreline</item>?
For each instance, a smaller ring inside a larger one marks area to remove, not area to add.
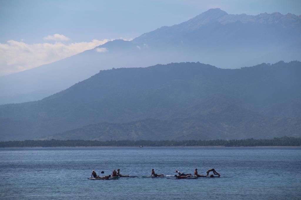
[[[0,142],[0,148],[8,147],[95,147],[95,146],[301,146],[301,138],[281,137],[274,139],[240,139],[240,140],[24,140]]]

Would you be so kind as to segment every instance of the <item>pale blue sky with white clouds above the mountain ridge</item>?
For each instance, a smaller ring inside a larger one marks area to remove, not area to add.
[[[0,0],[0,76],[51,63],[113,39],[132,40],[210,9],[301,15],[301,0]]]

